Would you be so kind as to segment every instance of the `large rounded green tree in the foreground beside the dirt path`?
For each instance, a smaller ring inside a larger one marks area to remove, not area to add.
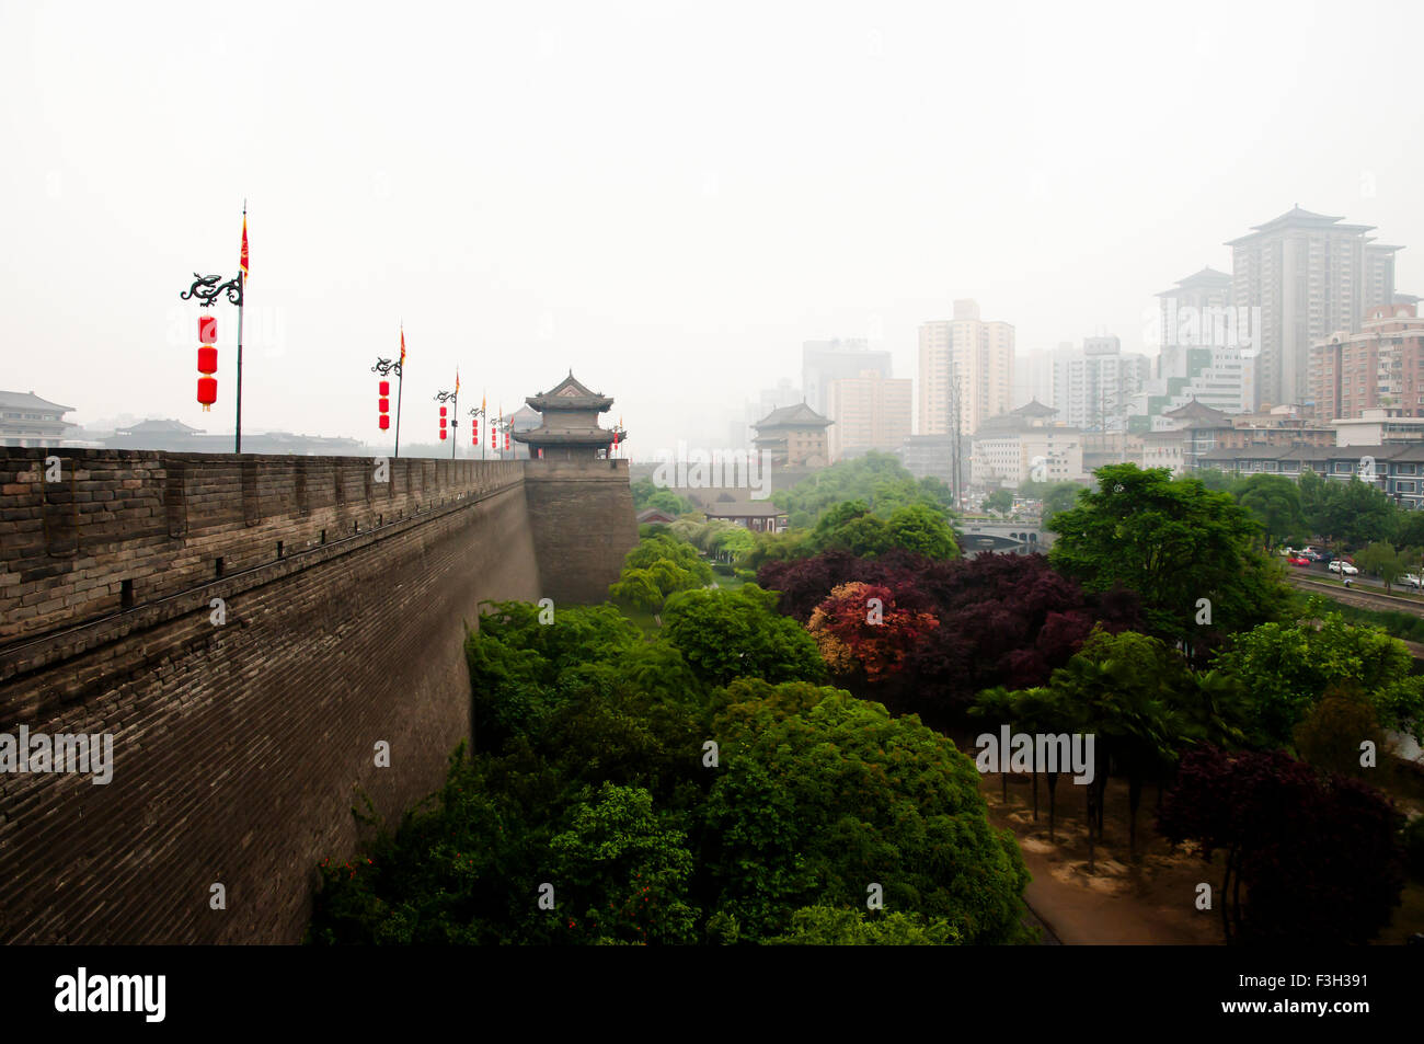
[[[743,681],[726,701],[705,850],[742,937],[797,934],[793,910],[860,907],[877,883],[886,913],[944,920],[965,943],[1024,939],[1018,845],[990,828],[948,739],[839,689]]]

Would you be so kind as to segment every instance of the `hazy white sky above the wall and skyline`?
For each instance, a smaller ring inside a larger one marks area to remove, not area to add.
[[[178,293],[235,275],[244,198],[248,430],[376,439],[404,318],[403,442],[459,363],[464,403],[572,366],[637,456],[721,446],[802,340],[914,376],[954,298],[1139,348],[1297,202],[1424,293],[1421,10],[4,0],[0,387],[231,430],[236,309],[204,414]]]

